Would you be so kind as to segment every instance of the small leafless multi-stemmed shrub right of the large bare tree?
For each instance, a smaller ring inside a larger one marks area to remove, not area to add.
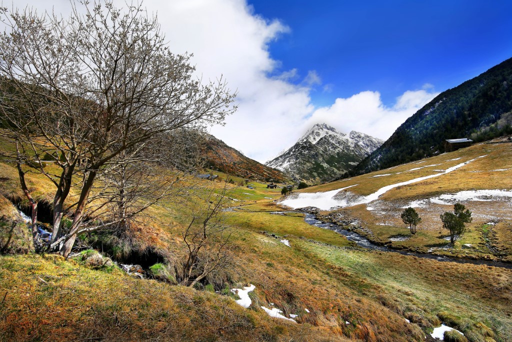
[[[227,193],[226,180],[223,188],[210,189],[205,198],[198,198],[194,204],[190,224],[182,235],[186,253],[176,269],[177,280],[182,285],[193,287],[230,264]]]

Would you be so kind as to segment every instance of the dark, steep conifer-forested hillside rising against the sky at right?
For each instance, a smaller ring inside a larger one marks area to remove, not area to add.
[[[350,175],[444,152],[445,139],[475,141],[512,133],[512,58],[446,90],[408,118]]]

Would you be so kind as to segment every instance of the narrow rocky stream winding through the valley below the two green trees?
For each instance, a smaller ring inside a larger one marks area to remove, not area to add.
[[[428,254],[428,253],[416,253],[416,252],[410,252],[410,251],[402,251],[402,250],[392,249],[387,246],[376,245],[376,244],[372,243],[366,237],[361,236],[355,232],[351,232],[346,229],[343,229],[342,227],[335,225],[333,223],[323,223],[321,220],[318,220],[314,214],[306,213],[305,215],[306,216],[304,218],[304,221],[307,224],[309,224],[311,226],[335,231],[336,233],[345,236],[347,238],[347,240],[353,241],[357,246],[362,247],[362,248],[381,251],[381,252],[392,252],[392,253],[400,253],[403,255],[413,255],[413,256],[417,256],[419,258],[433,259],[433,260],[438,260],[438,261],[450,261],[452,263],[459,263],[459,264],[487,265],[487,266],[506,268],[509,270],[512,269],[512,264],[502,263],[501,261],[455,258],[455,257],[449,257],[449,256],[433,255],[433,254]]]

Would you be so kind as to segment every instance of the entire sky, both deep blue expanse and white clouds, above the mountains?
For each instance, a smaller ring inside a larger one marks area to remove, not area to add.
[[[101,2],[101,0],[99,0]],[[124,0],[113,0],[125,7]],[[69,0],[19,0],[67,16]],[[512,1],[144,0],[169,48],[222,75],[209,132],[265,162],[316,123],[387,139],[439,92],[512,57]],[[78,7],[81,10],[81,7]]]

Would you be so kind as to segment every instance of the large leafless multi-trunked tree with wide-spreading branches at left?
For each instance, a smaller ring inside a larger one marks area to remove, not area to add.
[[[25,167],[55,185],[52,246],[62,243],[65,256],[83,230],[98,175],[129,165],[125,151],[155,139],[165,144],[165,133],[178,129],[223,123],[236,110],[223,79],[194,79],[191,55],[170,52],[157,19],[140,5],[82,5],[85,14],[73,3],[67,19],[33,9],[1,12],[0,113],[18,133],[5,140],[23,146],[35,159]],[[43,157],[58,171],[45,168]],[[62,232],[67,212],[73,222]]]

